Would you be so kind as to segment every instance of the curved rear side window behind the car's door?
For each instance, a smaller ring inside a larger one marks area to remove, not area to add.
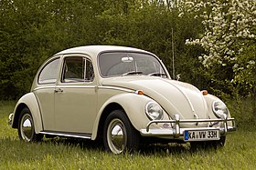
[[[55,84],[58,75],[59,58],[48,63],[38,76],[39,84]]]

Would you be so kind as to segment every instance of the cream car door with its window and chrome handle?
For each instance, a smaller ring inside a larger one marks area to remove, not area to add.
[[[97,95],[89,56],[66,55],[55,89],[55,125],[63,133],[91,134]]]

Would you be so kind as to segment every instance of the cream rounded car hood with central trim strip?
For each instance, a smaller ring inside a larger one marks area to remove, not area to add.
[[[193,85],[155,76],[123,76],[105,79],[102,85],[143,90],[144,95],[154,99],[173,117],[181,119],[208,118],[204,96]]]

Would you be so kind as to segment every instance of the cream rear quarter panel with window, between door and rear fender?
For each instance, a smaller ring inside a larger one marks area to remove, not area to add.
[[[33,93],[40,107],[44,130],[53,130],[54,125],[54,92],[59,75],[59,57],[55,57],[43,66],[37,77],[37,88]]]

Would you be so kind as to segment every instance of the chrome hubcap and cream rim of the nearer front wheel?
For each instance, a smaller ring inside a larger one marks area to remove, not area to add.
[[[127,133],[120,119],[112,119],[107,129],[107,142],[114,154],[121,154],[127,143]]]

